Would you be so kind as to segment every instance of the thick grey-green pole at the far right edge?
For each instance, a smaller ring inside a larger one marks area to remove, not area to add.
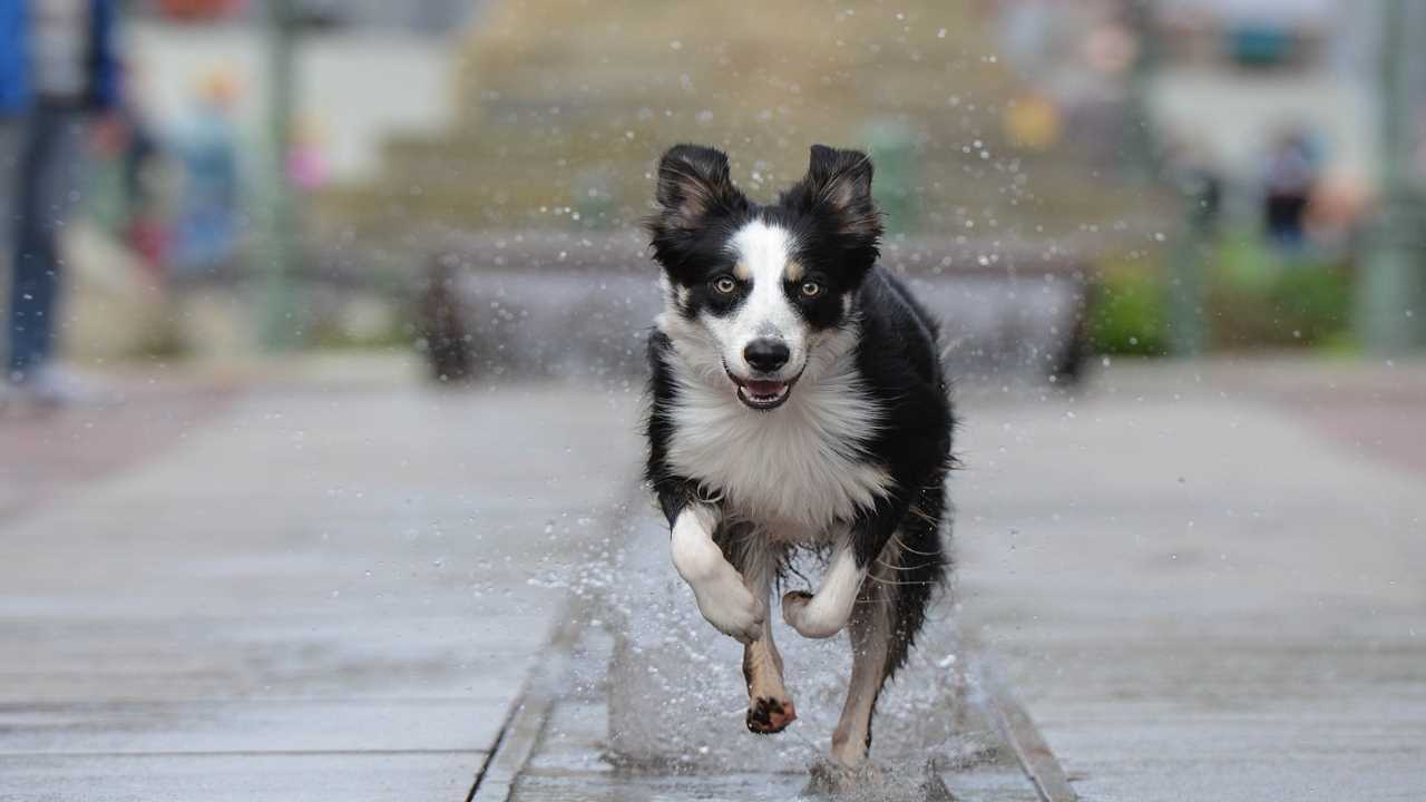
[[[1413,113],[1406,80],[1409,11],[1406,0],[1382,0],[1382,205],[1372,225],[1358,285],[1358,333],[1372,352],[1393,354],[1422,345],[1423,295],[1419,193],[1412,186]]]

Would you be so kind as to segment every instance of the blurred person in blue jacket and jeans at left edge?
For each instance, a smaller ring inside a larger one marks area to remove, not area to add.
[[[0,0],[0,164],[10,166],[0,258],[13,275],[4,370],[11,395],[47,404],[84,395],[53,364],[58,240],[78,196],[84,128],[118,101],[117,16],[117,0]]]

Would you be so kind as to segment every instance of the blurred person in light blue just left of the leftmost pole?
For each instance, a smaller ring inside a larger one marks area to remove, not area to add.
[[[178,136],[183,193],[174,230],[174,267],[212,274],[232,263],[238,240],[240,170],[232,103],[237,78],[227,70],[202,77],[193,117]]]

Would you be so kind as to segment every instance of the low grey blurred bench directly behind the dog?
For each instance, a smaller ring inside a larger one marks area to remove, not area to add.
[[[646,331],[662,308],[645,244],[633,231],[448,238],[419,294],[432,374],[643,374]],[[941,318],[953,375],[1078,377],[1089,285],[1070,253],[918,237],[887,243],[881,263]]]

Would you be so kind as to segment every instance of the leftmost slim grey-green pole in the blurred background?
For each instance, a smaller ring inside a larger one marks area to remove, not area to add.
[[[262,344],[268,350],[289,348],[297,340],[297,304],[292,271],[297,267],[297,204],[288,178],[287,160],[292,134],[294,23],[292,0],[267,0],[268,11],[268,153],[267,214],[264,237]]]

